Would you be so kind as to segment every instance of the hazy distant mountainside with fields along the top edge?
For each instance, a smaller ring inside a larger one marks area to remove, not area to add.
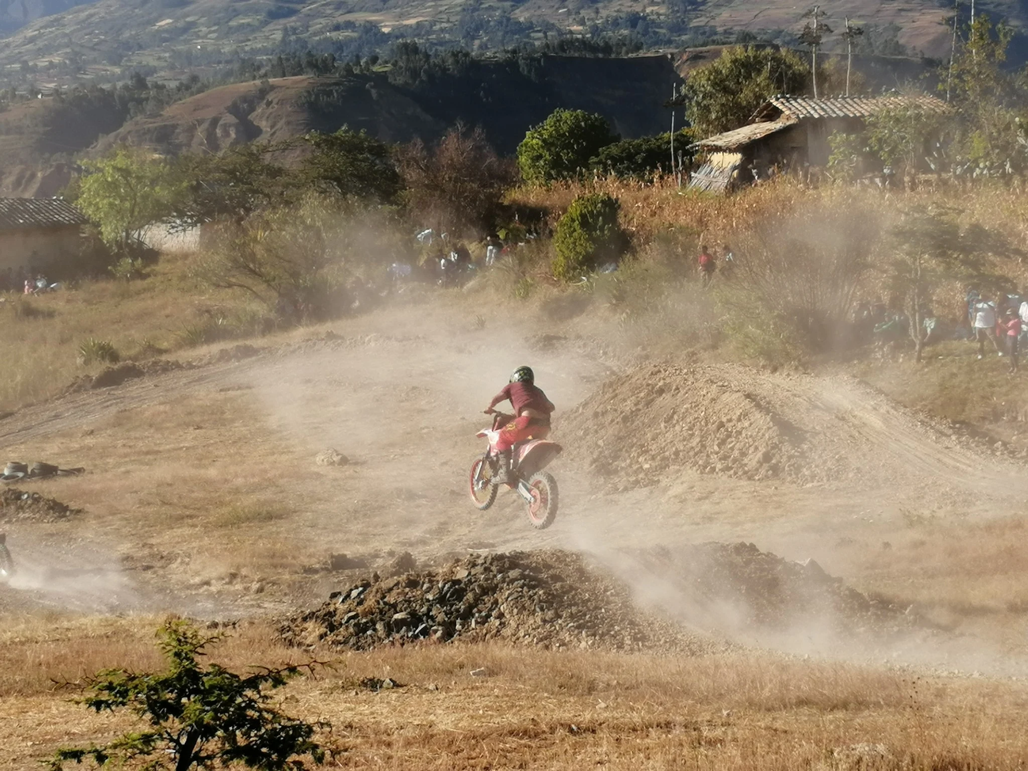
[[[812,4],[812,3],[808,3]],[[0,0],[0,26],[19,28],[0,43],[0,68],[36,68],[36,80],[75,73],[116,76],[125,68],[184,71],[236,56],[266,57],[296,46],[387,48],[410,34],[469,48],[539,41],[548,30],[628,36],[644,47],[675,49],[714,35],[749,33],[795,42],[808,4],[795,0]],[[945,58],[951,5],[943,0],[822,0],[840,47],[844,17],[867,25],[865,52]],[[944,7],[945,6],[945,7]],[[1028,21],[1028,0],[993,0],[979,9]],[[966,12],[966,9],[965,11]],[[356,47],[355,47],[356,46]],[[347,54],[348,56],[348,54]],[[1017,59],[1017,57],[1015,57]]]

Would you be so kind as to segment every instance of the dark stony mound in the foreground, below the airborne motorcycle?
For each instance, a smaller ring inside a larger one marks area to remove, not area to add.
[[[711,648],[639,612],[626,586],[561,551],[475,555],[390,579],[375,574],[289,619],[280,632],[293,646],[358,650],[457,638],[687,653]]]

